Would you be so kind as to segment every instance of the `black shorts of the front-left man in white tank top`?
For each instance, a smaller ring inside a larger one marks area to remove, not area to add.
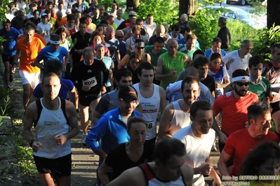
[[[51,173],[55,177],[70,176],[72,169],[72,153],[56,159],[37,157],[33,155],[39,173]]]

